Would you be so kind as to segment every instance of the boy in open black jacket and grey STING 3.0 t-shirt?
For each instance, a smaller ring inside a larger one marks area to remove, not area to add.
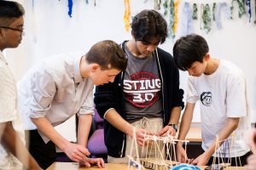
[[[177,67],[172,55],[158,48],[167,37],[166,20],[154,10],[143,10],[133,18],[131,29],[131,40],[121,44],[128,58],[126,70],[113,83],[96,87],[108,162],[128,161],[123,157],[130,153],[133,127],[139,145],[145,133],[175,135],[183,108]]]

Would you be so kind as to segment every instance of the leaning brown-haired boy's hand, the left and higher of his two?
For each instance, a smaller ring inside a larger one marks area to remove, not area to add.
[[[90,156],[89,150],[87,150],[84,146],[80,144],[69,143],[63,151],[72,161],[77,162],[83,161],[86,156]]]

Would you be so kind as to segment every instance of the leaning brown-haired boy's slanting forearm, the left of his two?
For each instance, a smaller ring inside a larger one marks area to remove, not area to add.
[[[32,122],[38,127],[38,130],[41,133],[44,133],[44,135],[61,150],[64,150],[67,147],[67,144],[69,144],[67,139],[64,139],[45,117],[32,118]]]

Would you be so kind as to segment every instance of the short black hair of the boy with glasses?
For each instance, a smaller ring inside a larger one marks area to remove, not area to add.
[[[0,0],[0,26],[9,26],[24,14],[25,10],[20,3]]]

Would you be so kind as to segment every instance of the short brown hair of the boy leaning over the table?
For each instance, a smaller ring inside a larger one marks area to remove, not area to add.
[[[86,54],[86,60],[89,64],[96,63],[102,67],[102,70],[117,69],[125,71],[127,58],[123,49],[111,40],[97,42]]]

